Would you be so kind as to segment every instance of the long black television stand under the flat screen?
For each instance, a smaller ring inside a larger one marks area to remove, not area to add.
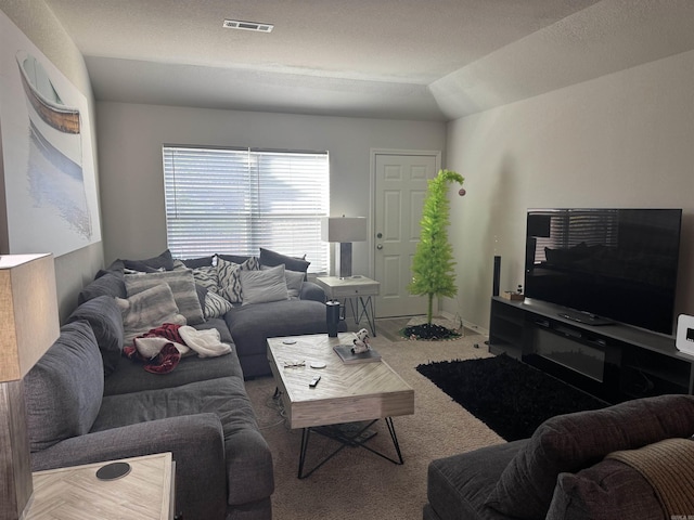
[[[619,323],[589,325],[526,298],[491,299],[489,351],[505,353],[605,401],[694,393],[694,356],[674,338]]]

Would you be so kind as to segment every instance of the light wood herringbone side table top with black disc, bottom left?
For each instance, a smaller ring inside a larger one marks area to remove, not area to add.
[[[129,463],[130,472],[115,480],[99,480],[95,463],[34,472],[34,495],[26,520],[128,518],[174,520],[175,467],[170,453],[112,460]]]

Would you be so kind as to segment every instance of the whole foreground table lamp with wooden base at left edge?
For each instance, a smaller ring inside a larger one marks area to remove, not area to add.
[[[59,335],[53,256],[0,256],[0,520],[34,493],[23,378]]]

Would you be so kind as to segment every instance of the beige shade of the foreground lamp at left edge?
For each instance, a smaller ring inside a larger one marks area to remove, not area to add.
[[[0,256],[0,381],[23,378],[59,335],[53,256]]]

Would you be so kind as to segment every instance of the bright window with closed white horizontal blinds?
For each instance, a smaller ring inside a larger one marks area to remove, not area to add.
[[[327,272],[326,152],[164,146],[166,233],[175,258],[255,255],[264,247],[304,256]]]

